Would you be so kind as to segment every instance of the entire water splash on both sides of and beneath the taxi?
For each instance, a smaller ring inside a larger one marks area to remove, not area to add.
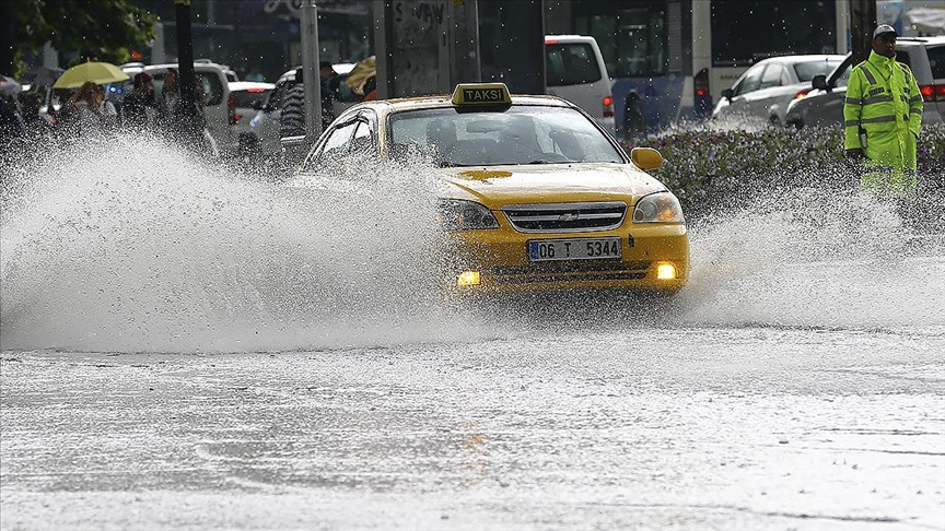
[[[918,238],[890,204],[815,187],[692,226],[690,281],[672,304],[578,297],[583,309],[555,311],[539,297],[501,318],[463,315],[436,285],[448,257],[430,249],[433,173],[362,162],[347,180],[273,185],[128,138],[15,167],[0,189],[2,349],[292,351],[562,324],[945,326],[941,235]]]

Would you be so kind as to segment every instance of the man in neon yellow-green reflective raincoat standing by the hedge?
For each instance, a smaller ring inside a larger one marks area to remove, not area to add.
[[[896,37],[892,26],[877,26],[870,58],[850,73],[843,144],[848,158],[865,158],[862,189],[913,199],[923,102],[912,71],[896,61]]]

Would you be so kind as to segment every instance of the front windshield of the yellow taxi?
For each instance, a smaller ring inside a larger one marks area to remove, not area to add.
[[[440,166],[623,162],[591,119],[565,107],[409,110],[392,115],[389,128],[392,155],[401,162],[418,152]]]

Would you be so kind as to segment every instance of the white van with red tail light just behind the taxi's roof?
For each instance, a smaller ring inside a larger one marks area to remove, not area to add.
[[[594,37],[546,35],[545,79],[548,94],[581,107],[614,134],[610,76]]]

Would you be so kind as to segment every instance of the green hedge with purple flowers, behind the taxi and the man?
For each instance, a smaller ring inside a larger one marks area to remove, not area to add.
[[[708,214],[721,203],[748,199],[780,187],[844,187],[853,168],[843,151],[840,128],[767,128],[719,130],[712,125],[670,130],[623,141],[660,150],[665,162],[652,172],[669,187],[687,212]],[[919,175],[925,184],[945,186],[945,125],[923,126]]]

